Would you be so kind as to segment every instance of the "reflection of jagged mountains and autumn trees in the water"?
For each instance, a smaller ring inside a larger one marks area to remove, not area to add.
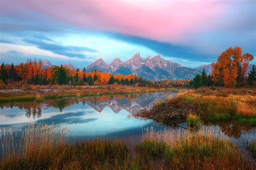
[[[20,110],[25,110],[27,118],[40,118],[42,116],[42,109],[58,108],[60,112],[70,105],[85,103],[98,112],[102,112],[105,107],[109,107],[114,113],[122,109],[131,114],[140,111],[141,109],[151,109],[157,100],[165,100],[167,97],[175,94],[167,93],[151,93],[151,94],[124,94],[124,95],[103,95],[85,98],[62,98],[58,100],[45,100],[44,102],[29,102],[29,103],[11,103],[3,104],[1,108],[16,107]],[[15,115],[8,115],[14,117]]]

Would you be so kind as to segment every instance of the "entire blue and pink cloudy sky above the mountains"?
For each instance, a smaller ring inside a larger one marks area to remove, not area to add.
[[[193,68],[235,46],[255,58],[255,16],[255,0],[0,0],[0,61],[86,67],[139,52]]]

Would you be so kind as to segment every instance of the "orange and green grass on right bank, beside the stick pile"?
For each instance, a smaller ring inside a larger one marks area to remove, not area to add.
[[[190,90],[174,98],[179,103],[191,103],[196,113],[206,121],[236,120],[256,126],[256,89]]]

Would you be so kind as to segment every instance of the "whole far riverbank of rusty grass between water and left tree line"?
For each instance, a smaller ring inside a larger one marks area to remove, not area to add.
[[[133,86],[36,86],[26,89],[0,90],[0,103],[16,101],[42,101],[63,97],[86,97],[113,94],[150,93],[164,91],[164,88]]]

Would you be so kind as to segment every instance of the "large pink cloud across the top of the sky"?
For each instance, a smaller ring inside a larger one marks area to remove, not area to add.
[[[33,10],[85,29],[111,31],[177,43],[214,29],[224,7],[217,1],[16,1]],[[18,6],[18,7],[17,7]],[[13,6],[9,3],[9,9]]]

